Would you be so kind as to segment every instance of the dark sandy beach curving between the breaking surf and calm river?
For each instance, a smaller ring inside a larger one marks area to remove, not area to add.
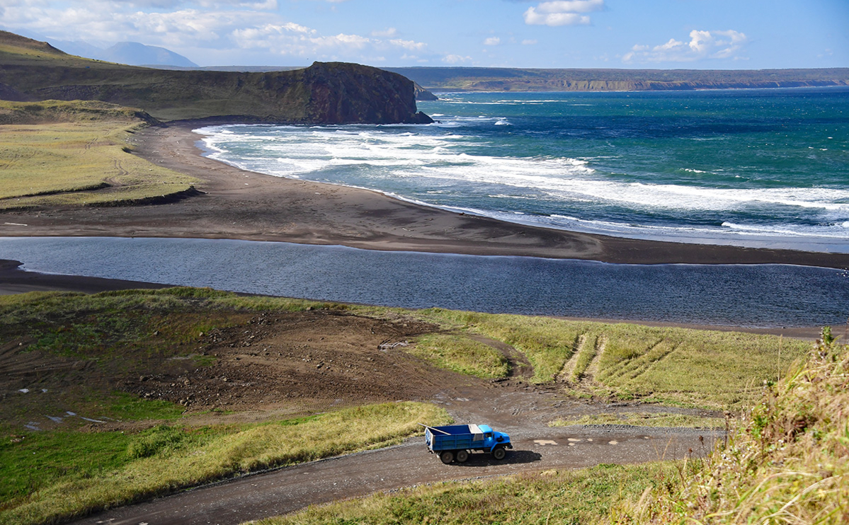
[[[434,253],[526,255],[611,263],[763,264],[849,268],[849,254],[663,243],[524,226],[429,208],[381,193],[239,170],[202,156],[192,130],[151,127],[138,154],[202,179],[175,202],[0,213],[0,236],[198,237]]]

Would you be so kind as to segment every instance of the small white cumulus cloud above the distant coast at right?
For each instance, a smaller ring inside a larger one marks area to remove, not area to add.
[[[622,62],[693,62],[700,59],[739,59],[748,38],[739,31],[700,31],[689,33],[689,42],[670,38],[649,47],[635,45],[622,56]]]

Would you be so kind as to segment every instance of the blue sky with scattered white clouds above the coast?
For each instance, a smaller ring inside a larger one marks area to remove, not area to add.
[[[0,0],[0,28],[202,66],[849,67],[849,0]]]

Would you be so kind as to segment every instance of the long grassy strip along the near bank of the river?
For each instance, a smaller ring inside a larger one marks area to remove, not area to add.
[[[127,347],[149,355],[191,355],[202,343],[198,334],[212,327],[235,326],[256,312],[306,308],[335,308],[364,316],[413,316],[435,323],[439,328],[423,338],[416,351],[438,366],[481,377],[503,377],[506,360],[496,349],[465,334],[497,339],[526,355],[534,366],[534,383],[553,383],[583,338],[573,373],[580,381],[592,362],[593,381],[566,383],[565,388],[582,388],[575,392],[588,391],[601,398],[720,410],[753,402],[762,382],[779,377],[808,346],[796,339],[742,332],[440,309],[396,310],[240,297],[208,288],[0,297],[0,338],[32,338],[31,349],[76,358],[121,360]],[[121,351],[117,351],[118,343]]]

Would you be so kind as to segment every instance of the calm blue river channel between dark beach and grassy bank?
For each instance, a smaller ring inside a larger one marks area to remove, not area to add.
[[[679,321],[843,325],[849,272],[789,265],[611,265],[248,241],[0,237],[24,268],[409,308]]]

